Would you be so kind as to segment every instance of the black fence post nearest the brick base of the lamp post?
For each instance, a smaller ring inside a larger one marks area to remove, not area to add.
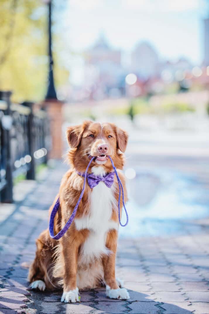
[[[29,147],[29,155],[31,156],[31,162],[29,170],[26,174],[26,179],[35,180],[35,160],[34,160],[34,115],[33,115],[33,103],[29,101],[25,101],[23,103],[24,106],[30,108],[30,114],[28,116],[28,147]]]

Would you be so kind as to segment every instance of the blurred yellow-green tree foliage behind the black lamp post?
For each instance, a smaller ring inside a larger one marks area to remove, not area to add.
[[[47,88],[47,6],[36,0],[0,2],[0,90],[12,90],[13,101],[44,98]],[[68,71],[55,59],[55,83]]]

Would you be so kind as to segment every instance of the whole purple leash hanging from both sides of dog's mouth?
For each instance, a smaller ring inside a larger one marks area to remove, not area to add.
[[[112,161],[112,158],[110,156],[108,156],[111,163],[112,163],[112,167],[114,169],[114,172],[116,174],[116,177],[117,177],[117,180],[118,180],[118,187],[119,187],[119,197],[118,197],[118,219],[119,219],[119,223],[122,227],[125,227],[126,225],[128,225],[128,213],[127,213],[127,210],[125,208],[125,204],[124,204],[124,192],[123,192],[123,186],[122,186],[122,183],[120,181],[120,178],[118,176],[118,173],[117,173],[117,170],[116,170],[116,167],[114,166],[114,163]],[[64,236],[65,232],[68,230],[68,228],[70,227],[70,225],[72,224],[73,222],[73,219],[75,218],[76,216],[76,212],[77,212],[77,209],[78,209],[78,205],[80,204],[81,202],[81,198],[83,197],[83,193],[84,193],[84,190],[85,190],[85,186],[86,186],[86,176],[87,176],[87,171],[89,169],[89,166],[91,165],[91,162],[95,159],[95,157],[92,157],[87,168],[86,168],[86,171],[85,171],[85,175],[84,175],[84,183],[83,183],[83,188],[82,188],[82,191],[81,191],[81,195],[76,203],[76,206],[75,208],[73,209],[73,212],[71,214],[71,217],[68,219],[68,221],[66,222],[65,226],[63,227],[62,230],[60,230],[60,232],[58,232],[56,235],[54,235],[54,219],[55,219],[55,215],[60,207],[60,198],[57,199],[56,203],[55,203],[55,206],[54,208],[52,209],[52,212],[51,212],[51,215],[50,215],[50,223],[49,223],[49,233],[50,233],[50,237],[52,239],[55,239],[55,240],[59,240],[62,236]],[[121,197],[121,189],[122,189],[122,198],[123,198],[123,207],[125,209],[125,213],[126,213],[126,223],[124,225],[121,224],[121,221],[120,221],[120,197]]]

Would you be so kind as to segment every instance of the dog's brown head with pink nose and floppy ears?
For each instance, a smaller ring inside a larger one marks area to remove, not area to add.
[[[71,148],[69,161],[76,170],[85,171],[91,156],[95,156],[91,166],[103,165],[109,171],[112,165],[108,155],[117,168],[123,168],[128,134],[115,124],[85,121],[68,127],[67,140]]]

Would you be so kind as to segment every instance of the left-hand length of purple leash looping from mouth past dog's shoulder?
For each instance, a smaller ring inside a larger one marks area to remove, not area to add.
[[[89,169],[89,166],[91,165],[91,162],[94,160],[95,157],[92,157],[87,168],[86,168],[86,171],[85,171],[85,176],[84,176],[84,183],[83,183],[83,188],[82,188],[82,191],[81,191],[81,194],[80,194],[80,197],[76,203],[76,206],[74,207],[73,209],[73,212],[71,214],[71,217],[68,219],[68,221],[66,222],[65,226],[63,227],[62,230],[60,230],[60,232],[58,232],[56,235],[54,234],[54,220],[55,220],[55,215],[60,207],[60,198],[57,199],[56,203],[55,203],[55,206],[54,208],[52,209],[52,212],[51,212],[51,215],[50,215],[50,223],[49,223],[49,233],[50,233],[50,237],[52,239],[55,239],[55,240],[59,240],[62,236],[64,236],[65,232],[68,230],[68,228],[70,227],[70,225],[72,224],[73,222],[73,219],[75,218],[76,216],[76,212],[77,212],[77,209],[78,209],[78,205],[80,204],[81,202],[81,198],[83,197],[83,193],[84,193],[84,190],[85,190],[85,185],[86,185],[86,176],[87,176],[87,171]]]

